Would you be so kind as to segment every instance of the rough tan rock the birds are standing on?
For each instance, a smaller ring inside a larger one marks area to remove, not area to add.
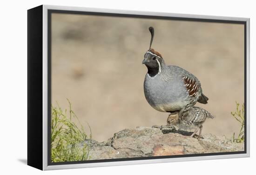
[[[189,137],[191,132],[162,127],[136,127],[114,134],[106,142],[88,139],[81,143],[89,149],[90,160],[145,156],[171,156],[215,152],[243,151],[244,144],[233,143],[225,136],[213,134]]]

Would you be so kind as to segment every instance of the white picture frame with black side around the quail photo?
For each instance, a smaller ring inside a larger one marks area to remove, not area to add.
[[[238,154],[223,153],[215,155],[205,154],[203,156],[184,156],[173,158],[158,158],[158,159],[142,159],[141,160],[125,160],[125,161],[94,161],[94,162],[78,162],[78,163],[61,163],[53,164],[49,159],[49,14],[52,11],[62,11],[67,13],[83,14],[84,12],[94,13],[108,13],[108,14],[122,14],[122,15],[138,15],[138,16],[155,16],[155,17],[170,17],[177,19],[191,19],[191,20],[212,20],[212,21],[229,21],[232,23],[240,21],[245,25],[245,151]],[[37,21],[37,22],[35,22]],[[40,25],[38,25],[40,24]],[[37,25],[37,26],[35,26]],[[85,7],[71,7],[71,6],[49,6],[42,5],[28,10],[28,165],[41,170],[53,169],[72,169],[72,168],[87,168],[87,167],[102,167],[102,166],[116,166],[116,165],[132,165],[142,163],[161,163],[161,162],[181,162],[181,161],[195,161],[195,160],[209,160],[209,159],[224,159],[224,158],[238,158],[249,157],[249,101],[250,101],[250,85],[249,85],[249,25],[248,18],[234,18],[222,16],[207,16],[207,15],[191,15],[191,14],[176,14],[176,13],[162,13],[162,12],[139,12],[139,11],[123,11],[100,8],[85,8]],[[41,37],[38,33],[30,33],[29,31],[38,30],[41,32]],[[39,38],[39,39],[38,39]],[[37,39],[38,42],[34,42]],[[40,45],[41,44],[41,45]],[[34,52],[36,50],[36,52]],[[32,60],[32,57],[39,56],[40,59]],[[38,69],[38,67],[40,69]],[[33,75],[32,75],[33,71]],[[38,77],[40,77],[38,79]],[[35,80],[37,79],[37,80]],[[36,84],[35,84],[36,83]],[[40,86],[42,86],[40,88]],[[40,99],[35,99],[41,96]],[[40,100],[38,103],[36,101]],[[41,113],[34,115],[34,110],[41,111]],[[39,141],[38,141],[39,140]],[[36,142],[36,143],[35,143]],[[41,144],[38,147],[37,144]],[[36,147],[36,149],[33,149]],[[37,162],[35,162],[37,157]]]

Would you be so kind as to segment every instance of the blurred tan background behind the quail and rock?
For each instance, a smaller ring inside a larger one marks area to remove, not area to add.
[[[196,106],[216,117],[205,122],[203,134],[237,133],[239,123],[230,112],[235,101],[244,101],[244,35],[238,24],[54,13],[52,104],[67,108],[68,98],[97,141],[125,128],[166,125],[168,113],[149,106],[143,92],[149,26],[155,27],[152,47],[165,63],[201,81],[209,103]]]

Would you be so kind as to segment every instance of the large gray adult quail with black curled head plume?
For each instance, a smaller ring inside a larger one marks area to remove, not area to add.
[[[162,55],[151,48],[154,28],[149,27],[149,31],[150,46],[142,64],[148,68],[144,94],[150,106],[160,112],[177,113],[197,101],[207,104],[208,98],[202,94],[201,83],[195,75],[178,66],[166,65]]]

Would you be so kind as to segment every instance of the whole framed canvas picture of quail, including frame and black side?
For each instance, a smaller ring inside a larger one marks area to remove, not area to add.
[[[249,156],[249,19],[42,5],[27,27],[28,165]]]

